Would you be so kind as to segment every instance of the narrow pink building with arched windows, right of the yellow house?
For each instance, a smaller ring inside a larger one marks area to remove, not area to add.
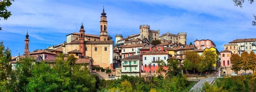
[[[232,52],[229,50],[224,50],[220,52],[221,56],[221,67],[231,67],[232,64],[230,62]]]

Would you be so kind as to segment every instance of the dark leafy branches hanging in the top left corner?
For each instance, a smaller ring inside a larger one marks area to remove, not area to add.
[[[0,1],[0,18],[7,20],[7,18],[9,18],[12,15],[11,12],[7,10],[7,8],[12,5],[12,1],[14,2],[14,0]],[[2,30],[1,27],[0,27],[0,30]]]

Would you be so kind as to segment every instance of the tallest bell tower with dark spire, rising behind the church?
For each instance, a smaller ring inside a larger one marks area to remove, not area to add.
[[[107,41],[108,40],[108,32],[107,32],[107,23],[106,21],[106,13],[104,12],[104,6],[103,6],[103,12],[100,16],[100,41]]]

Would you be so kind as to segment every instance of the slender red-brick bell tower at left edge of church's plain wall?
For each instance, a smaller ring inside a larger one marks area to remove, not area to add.
[[[83,53],[83,55],[85,55],[85,44],[84,44],[84,41],[85,41],[85,30],[83,29],[83,23],[81,25],[81,28],[80,28],[80,38],[79,38],[79,51],[81,53]]]

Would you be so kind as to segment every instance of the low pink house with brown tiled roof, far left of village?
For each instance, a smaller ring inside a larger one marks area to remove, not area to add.
[[[25,53],[23,55],[40,55],[43,60],[45,60],[45,59],[52,59],[52,60],[54,60],[55,59],[54,56],[56,56],[58,54],[54,54],[54,53],[52,53],[50,51],[47,51],[45,49],[43,49],[43,50],[40,49],[40,50],[35,50],[33,52],[30,52],[30,53]]]

